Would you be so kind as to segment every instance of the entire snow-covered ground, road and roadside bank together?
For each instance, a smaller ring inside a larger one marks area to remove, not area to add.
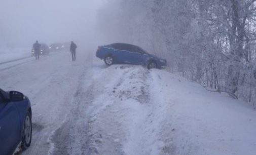
[[[256,154],[250,106],[163,70],[106,67],[91,51],[0,70],[1,88],[32,104],[22,154]]]

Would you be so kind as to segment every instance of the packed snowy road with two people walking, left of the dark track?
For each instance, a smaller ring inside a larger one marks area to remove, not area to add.
[[[92,62],[90,55],[79,56],[72,62],[69,53],[54,53],[1,71],[1,87],[23,92],[32,104],[32,143],[24,154],[47,154],[53,132],[76,106],[72,99]]]

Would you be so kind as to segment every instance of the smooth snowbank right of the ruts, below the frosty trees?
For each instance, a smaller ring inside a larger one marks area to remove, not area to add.
[[[163,154],[256,154],[256,112],[169,72],[154,70],[152,91],[163,106]],[[153,89],[157,88],[157,89]]]

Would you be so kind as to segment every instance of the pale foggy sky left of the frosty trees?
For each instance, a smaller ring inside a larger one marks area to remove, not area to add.
[[[0,46],[92,42],[102,0],[6,0],[0,5]]]

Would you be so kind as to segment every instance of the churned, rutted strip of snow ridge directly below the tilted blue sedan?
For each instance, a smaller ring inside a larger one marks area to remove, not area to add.
[[[104,87],[103,91],[108,93],[97,97],[97,102],[109,103],[94,111],[90,118],[90,135],[96,135],[91,141],[100,140],[90,143],[90,147],[97,150],[94,154],[150,154],[156,128],[151,128],[154,103],[150,101],[150,71],[137,66],[118,66],[106,69],[108,74],[121,72],[121,75],[115,74]]]

